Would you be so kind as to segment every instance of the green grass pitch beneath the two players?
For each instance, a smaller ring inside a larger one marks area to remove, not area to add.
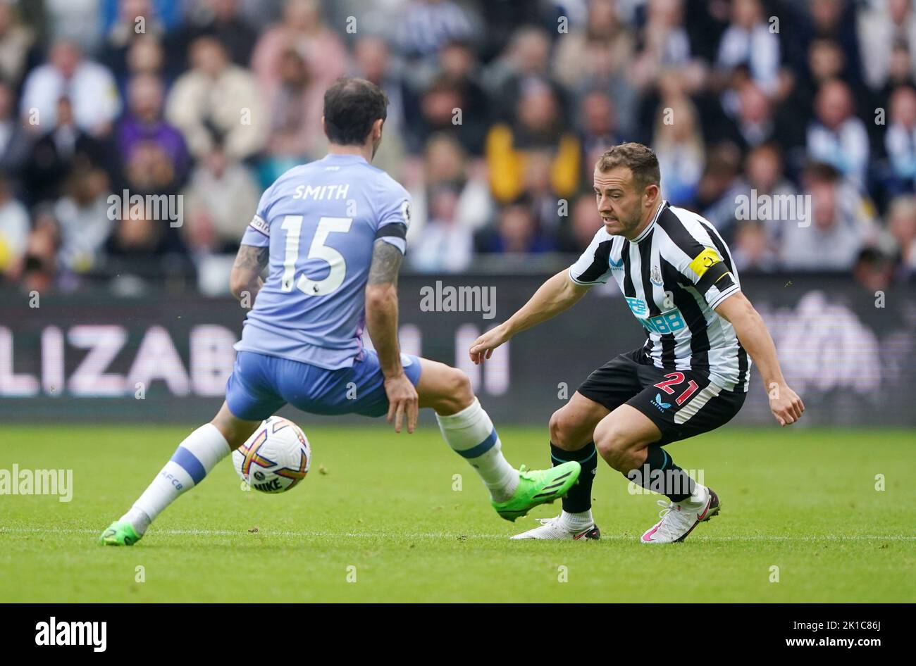
[[[224,461],[132,548],[95,539],[191,428],[4,426],[0,468],[70,468],[73,497],[0,495],[0,601],[916,601],[913,431],[725,427],[668,446],[723,509],[652,547],[638,536],[660,496],[604,463],[601,542],[509,542],[559,502],[500,520],[434,426],[298,421],[314,455],[299,487],[243,492]],[[548,464],[546,428],[499,433],[512,464]]]

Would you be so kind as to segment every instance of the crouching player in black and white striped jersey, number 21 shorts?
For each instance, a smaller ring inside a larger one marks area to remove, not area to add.
[[[514,539],[597,539],[591,489],[597,455],[643,488],[664,494],[661,520],[643,543],[683,541],[718,513],[714,490],[697,483],[662,448],[730,421],[747,395],[751,360],[780,425],[796,422],[802,399],[782,377],[763,320],[741,292],[731,253],[709,221],[660,196],[659,161],[649,147],[622,144],[594,168],[604,226],[569,270],[474,342],[471,360],[573,306],[593,285],[614,278],[646,343],[592,372],[551,417],[551,458],[578,460],[579,485],[562,514]],[[749,357],[749,358],[748,358]]]

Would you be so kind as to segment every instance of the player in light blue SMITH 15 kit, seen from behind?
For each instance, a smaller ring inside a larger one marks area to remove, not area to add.
[[[385,93],[362,79],[341,79],[325,93],[328,155],[267,188],[235,259],[233,294],[254,305],[223,407],[181,442],[100,542],[138,541],[162,510],[287,403],[311,414],[387,415],[398,433],[405,422],[412,433],[419,408],[431,407],[445,441],[477,470],[509,521],[562,497],[578,479],[575,461],[538,471],[511,467],[467,376],[400,353],[398,270],[410,199],[370,164],[386,109]],[[363,348],[364,327],[375,351]]]

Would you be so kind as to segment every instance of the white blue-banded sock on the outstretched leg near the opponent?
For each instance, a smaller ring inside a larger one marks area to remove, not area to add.
[[[518,488],[518,471],[508,464],[493,422],[474,398],[458,414],[436,414],[442,437],[453,451],[467,459],[490,490],[494,501],[506,501]]]

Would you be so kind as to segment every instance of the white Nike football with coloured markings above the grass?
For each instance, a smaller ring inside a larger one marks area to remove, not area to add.
[[[271,416],[232,454],[238,476],[261,492],[286,492],[309,473],[311,446],[289,419]]]

